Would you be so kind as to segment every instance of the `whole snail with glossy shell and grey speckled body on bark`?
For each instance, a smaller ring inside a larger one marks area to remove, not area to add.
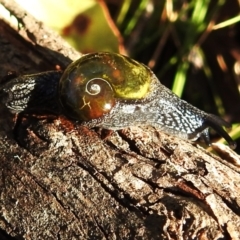
[[[90,128],[152,125],[183,139],[203,137],[210,144],[211,127],[236,147],[222,127],[231,127],[229,123],[181,100],[147,66],[116,53],[86,54],[63,73],[17,77],[0,87],[0,96],[12,112],[44,106]]]

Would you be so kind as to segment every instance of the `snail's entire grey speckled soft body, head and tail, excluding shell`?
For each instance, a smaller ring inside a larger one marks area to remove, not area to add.
[[[52,71],[12,79],[0,86],[1,104],[16,113],[37,109],[57,114],[67,113],[58,102],[58,82],[61,75],[61,72]],[[183,139],[196,140],[202,136],[208,144],[208,128],[212,127],[232,148],[236,146],[222,128],[231,127],[229,123],[181,100],[163,86],[152,72],[151,78],[150,91],[144,99],[116,99],[116,105],[108,114],[98,119],[79,122],[88,127],[112,130],[135,125],[152,125]]]

